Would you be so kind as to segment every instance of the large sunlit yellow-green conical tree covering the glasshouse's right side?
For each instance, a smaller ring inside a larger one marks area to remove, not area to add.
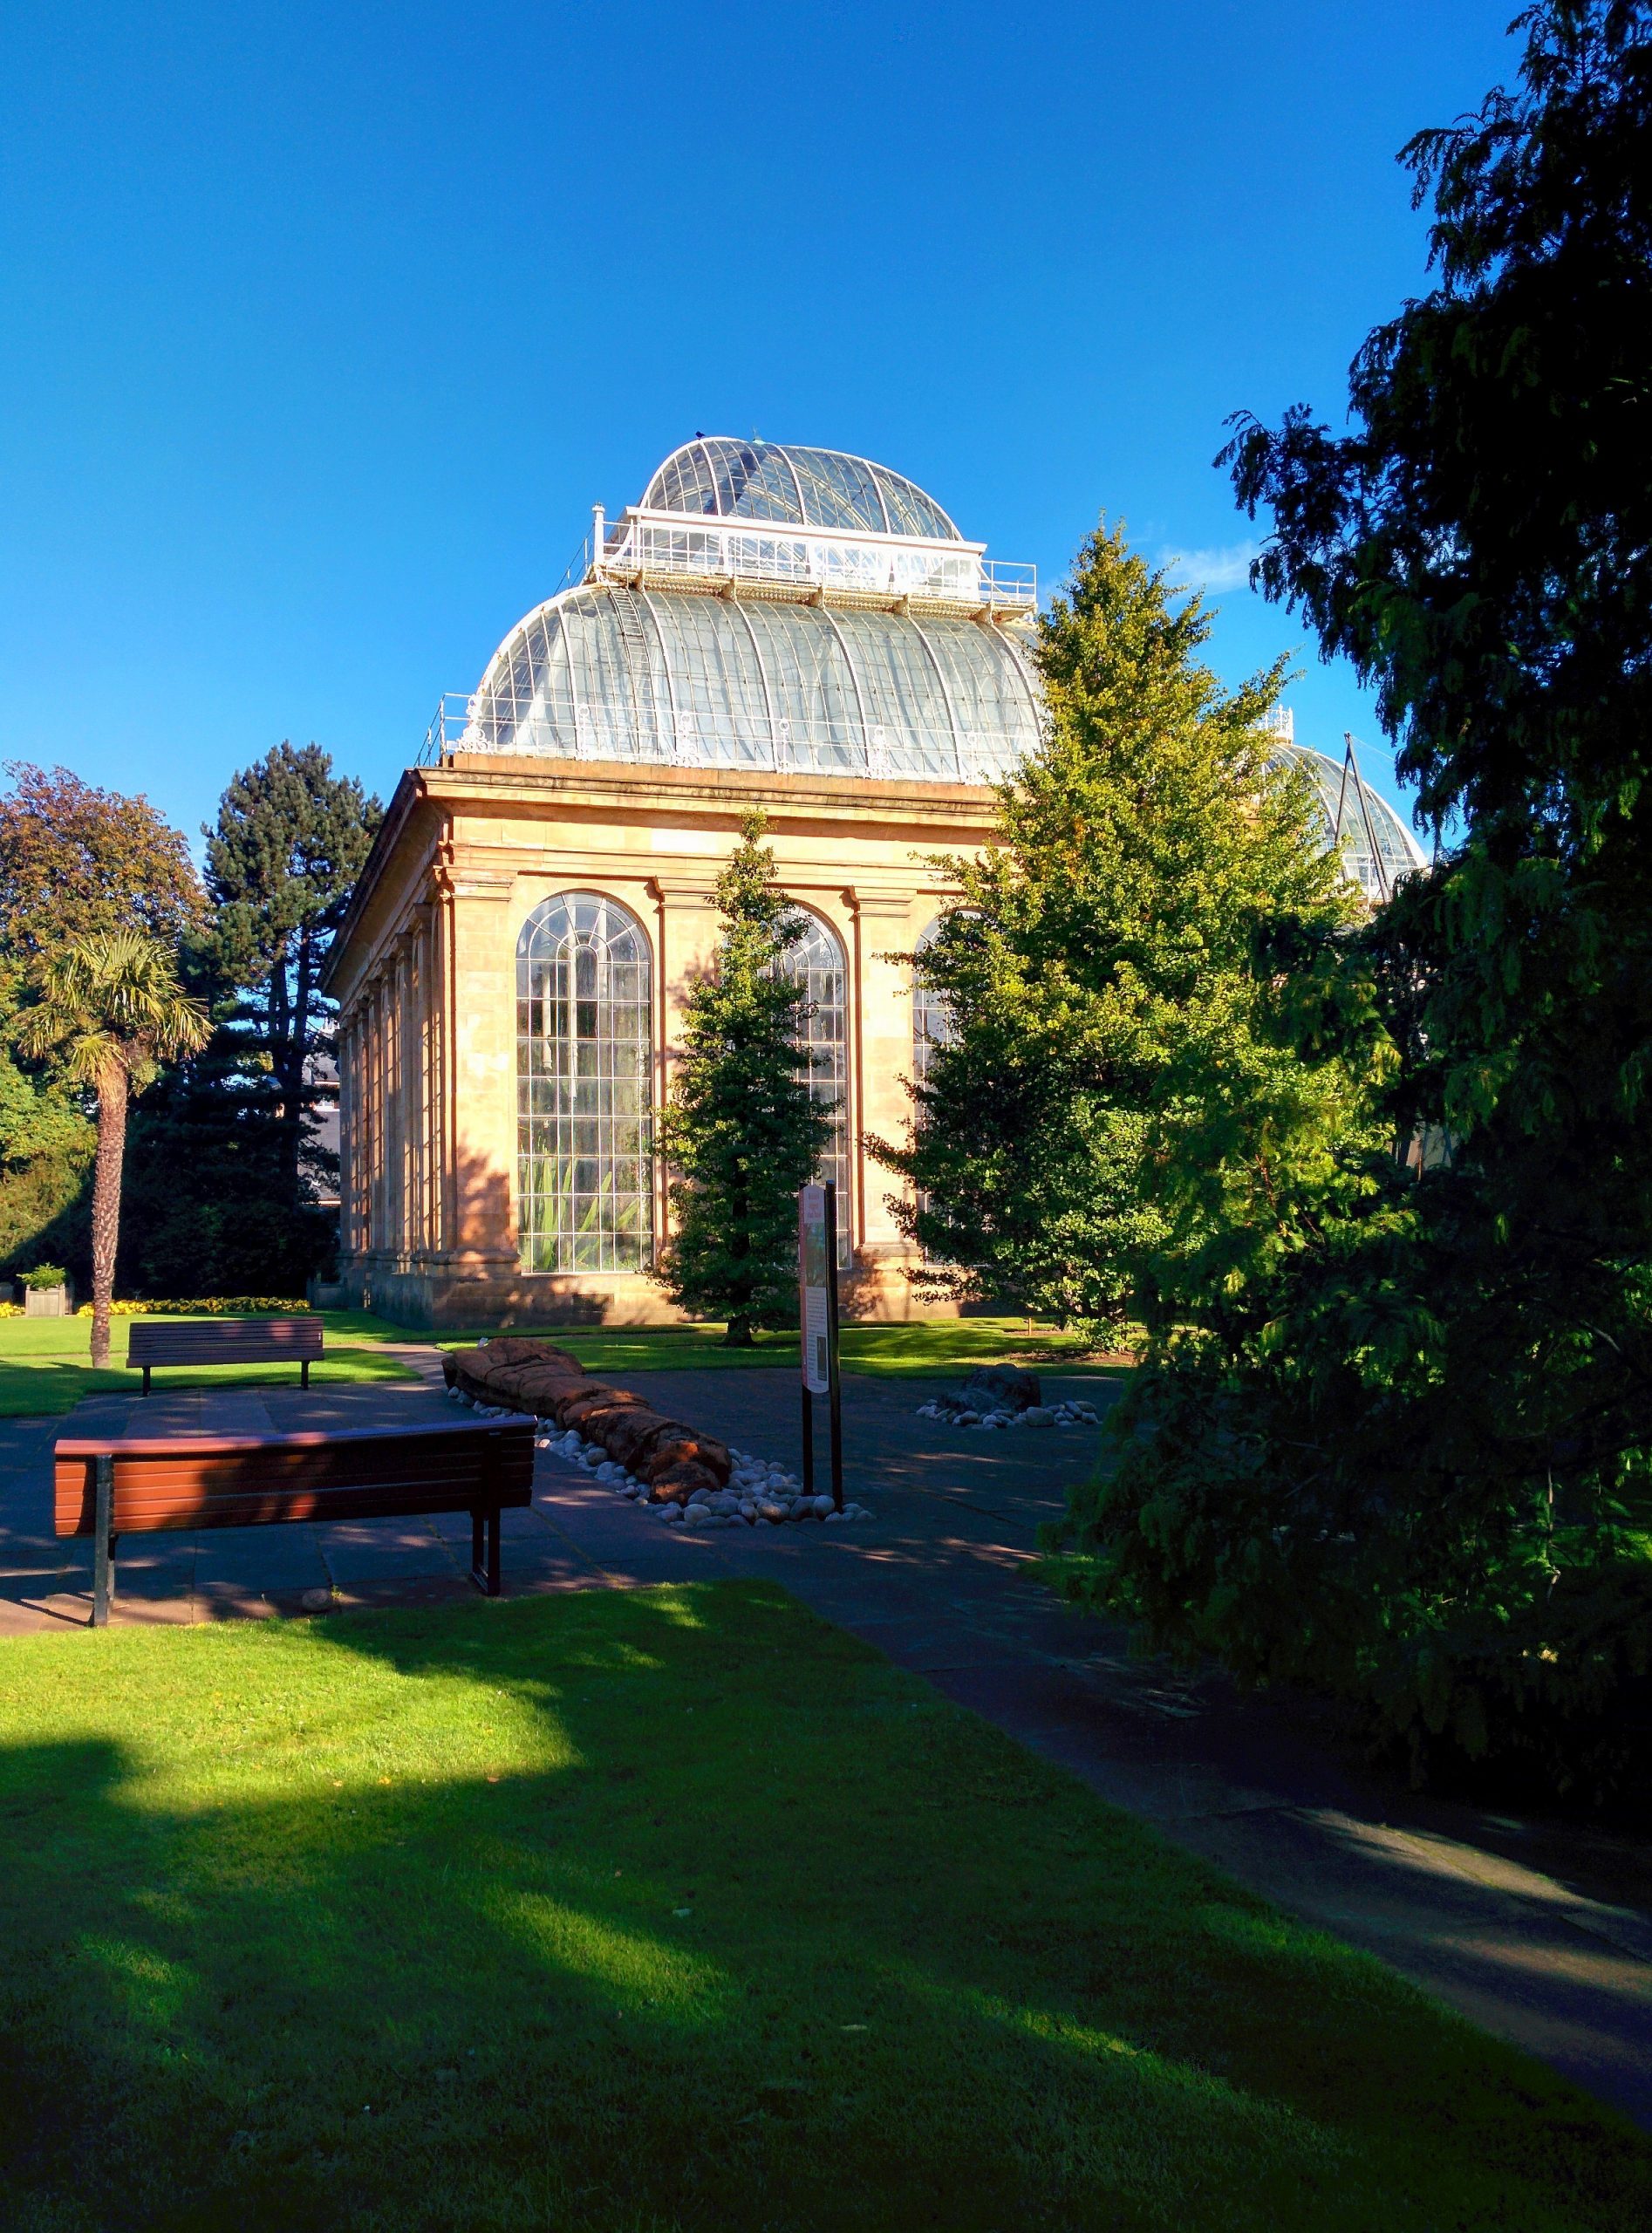
[[[1335,1130],[1257,1038],[1250,953],[1257,924],[1348,902],[1306,782],[1268,759],[1281,670],[1228,692],[1208,636],[1107,527],[1040,623],[1049,730],[998,846],[942,864],[962,900],[915,967],[947,1032],[911,1141],[877,1143],[915,1188],[895,1213],[929,1288],[1118,1326],[1168,1237],[1159,1163],[1194,1076],[1252,1076],[1286,1143]]]

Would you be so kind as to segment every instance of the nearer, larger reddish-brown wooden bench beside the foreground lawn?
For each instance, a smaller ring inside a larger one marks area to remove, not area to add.
[[[471,1581],[500,1594],[500,1512],[534,1496],[531,1418],[333,1434],[76,1436],[56,1447],[56,1532],[89,1534],[92,1626],[114,1597],[114,1545],[163,1527],[471,1514]],[[487,1539],[487,1541],[484,1541]]]

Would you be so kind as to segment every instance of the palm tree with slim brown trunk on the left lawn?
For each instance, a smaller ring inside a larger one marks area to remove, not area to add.
[[[109,1297],[121,1239],[121,1166],[127,1108],[163,1061],[196,1054],[208,1016],[179,989],[172,956],[147,931],[92,931],[40,974],[27,1009],[25,1054],[56,1054],[65,1076],[98,1096],[98,1159],[92,1175],[92,1362],[109,1362]]]

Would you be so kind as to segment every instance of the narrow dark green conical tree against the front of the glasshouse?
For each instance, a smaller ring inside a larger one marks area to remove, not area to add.
[[[775,889],[763,826],[763,815],[746,817],[717,880],[717,967],[688,996],[663,1123],[676,1177],[661,1280],[674,1302],[723,1317],[732,1349],[797,1315],[797,1188],[833,1119],[810,1094],[806,996],[788,974],[806,924]]]

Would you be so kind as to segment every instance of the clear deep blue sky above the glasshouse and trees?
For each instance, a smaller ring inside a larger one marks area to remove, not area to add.
[[[190,833],[281,737],[388,795],[694,429],[882,458],[1047,583],[1123,516],[1239,679],[1304,639],[1221,420],[1339,420],[1424,284],[1393,154],[1514,76],[1509,13],[13,9],[2,757]],[[1375,746],[1302,665],[1297,737]]]

